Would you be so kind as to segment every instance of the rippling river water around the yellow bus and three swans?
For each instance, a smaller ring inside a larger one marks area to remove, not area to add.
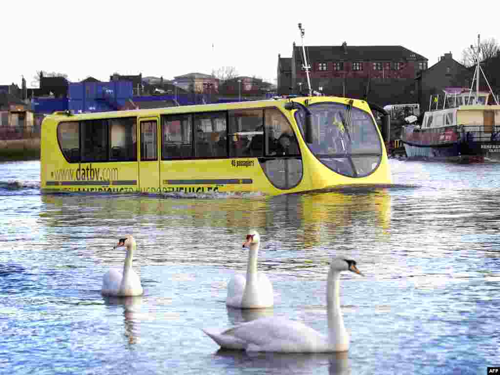
[[[0,163],[0,373],[486,373],[500,365],[500,163],[390,160],[393,186],[321,194],[41,194],[39,162]],[[274,308],[326,332],[328,260],[350,349],[218,351],[248,228]],[[144,295],[103,298],[131,233]]]

